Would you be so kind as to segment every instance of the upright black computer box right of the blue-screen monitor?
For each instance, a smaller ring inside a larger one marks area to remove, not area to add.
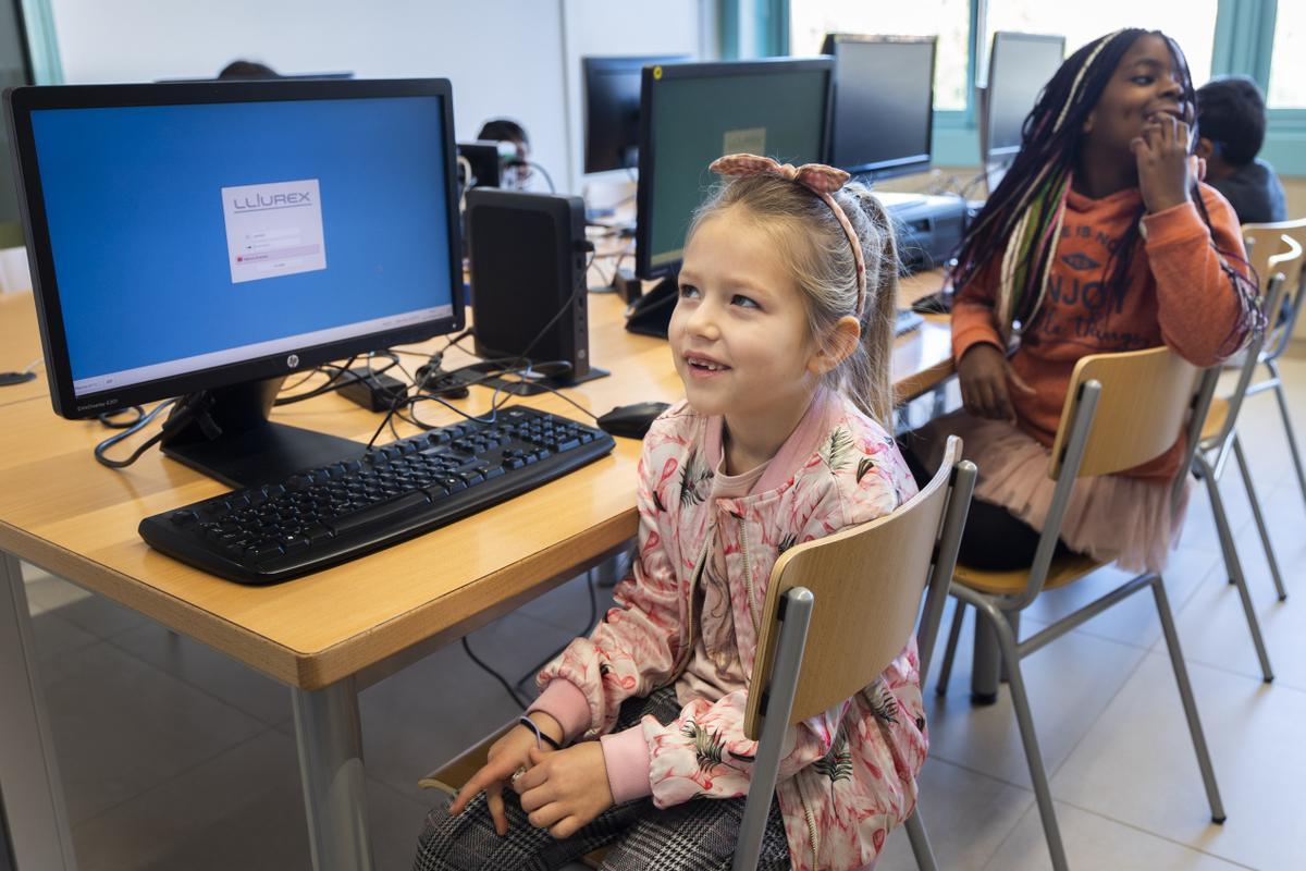
[[[562,360],[551,387],[607,375],[589,362],[585,202],[580,197],[473,188],[468,240],[475,353],[509,366],[518,356]],[[535,392],[535,390],[518,390]]]

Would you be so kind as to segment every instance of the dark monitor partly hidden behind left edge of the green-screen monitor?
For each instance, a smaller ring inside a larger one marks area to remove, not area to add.
[[[585,172],[639,166],[640,71],[688,59],[688,55],[580,59],[585,82]]]

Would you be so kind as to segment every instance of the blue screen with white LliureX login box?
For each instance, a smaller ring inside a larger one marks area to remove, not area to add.
[[[34,111],[77,392],[448,315],[441,111]]]

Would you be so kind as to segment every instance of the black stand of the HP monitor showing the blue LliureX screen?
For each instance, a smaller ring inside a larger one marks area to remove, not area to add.
[[[358,441],[268,419],[285,376],[188,393],[167,423],[165,454],[231,487],[281,481],[302,469],[360,457]]]

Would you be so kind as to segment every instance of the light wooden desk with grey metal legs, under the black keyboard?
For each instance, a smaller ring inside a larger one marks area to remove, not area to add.
[[[569,390],[577,402],[602,413],[680,394],[666,342],[627,333],[619,299],[592,295],[590,323],[593,359],[614,375]],[[900,396],[949,371],[946,324],[927,323],[899,341]],[[462,406],[487,410],[490,396],[478,388]],[[580,415],[554,396],[528,402]],[[432,423],[456,419],[435,404],[418,411]],[[287,684],[315,864],[370,868],[357,692],[601,562],[636,533],[640,445],[618,439],[611,456],[458,524],[310,577],[240,586],[151,551],[136,534],[146,515],[217,495],[222,484],[157,451],[123,471],[104,469],[91,448],[106,430],[56,418],[39,396],[0,415],[0,778],[18,855],[38,857],[31,867],[71,868],[73,861],[20,558]],[[380,422],[336,394],[278,409],[276,419],[360,441]]]

